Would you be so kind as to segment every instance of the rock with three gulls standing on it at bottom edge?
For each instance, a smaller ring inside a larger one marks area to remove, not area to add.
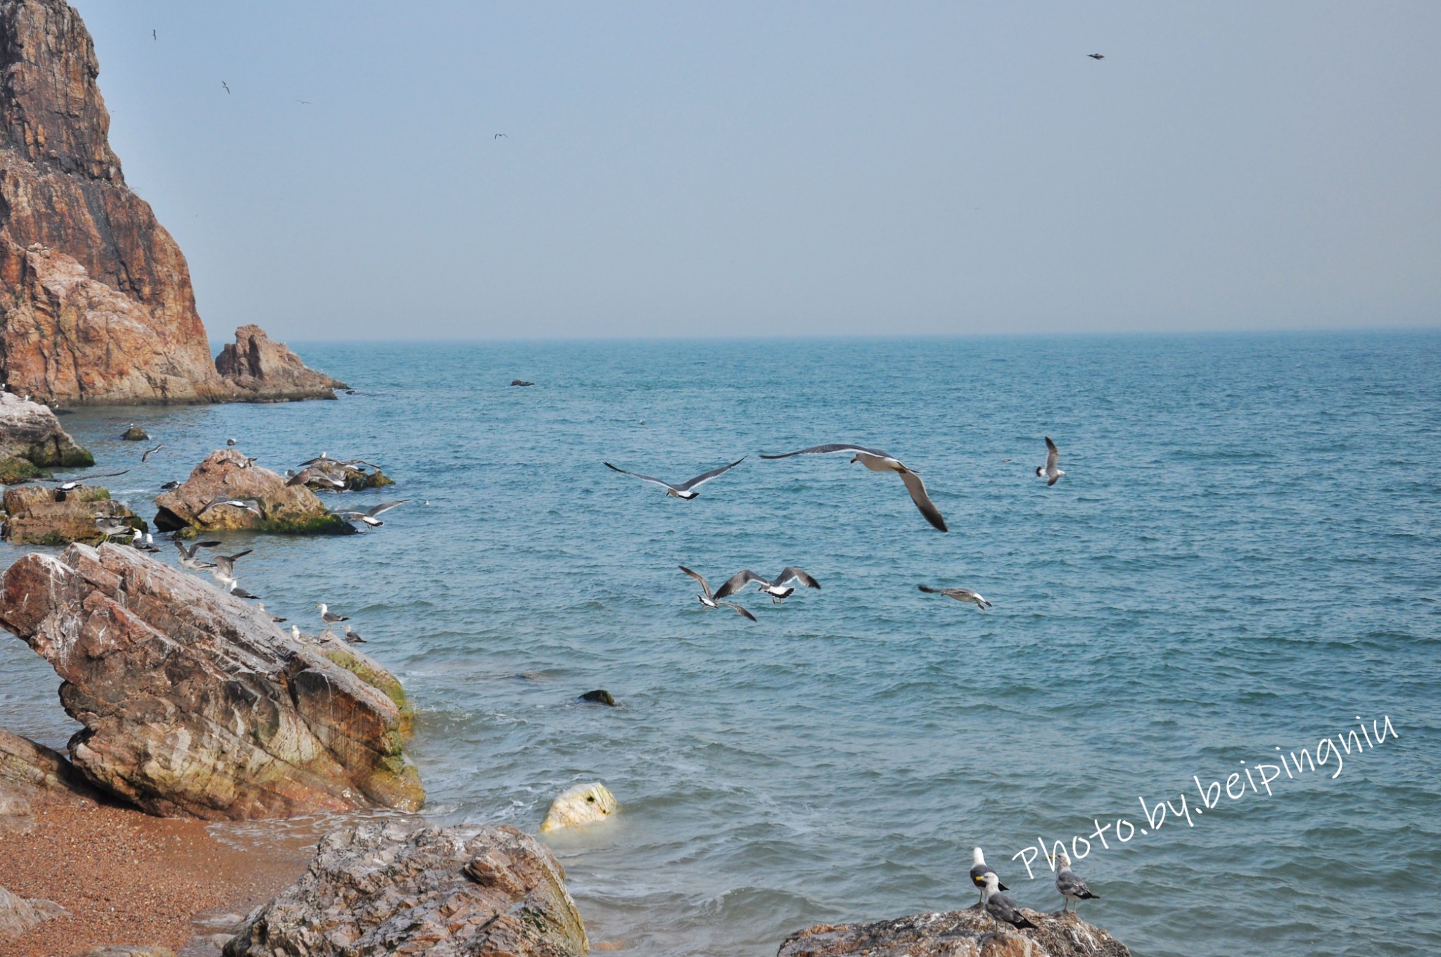
[[[873,924],[821,924],[785,938],[777,957],[1128,957],[1130,950],[1072,914],[1022,908],[1036,925],[1016,930],[971,905]]]

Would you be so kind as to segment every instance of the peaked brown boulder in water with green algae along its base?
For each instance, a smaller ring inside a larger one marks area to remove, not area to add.
[[[215,499],[254,500],[259,515]],[[354,528],[304,486],[287,486],[282,476],[261,468],[233,448],[213,451],[179,487],[156,496],[156,529],[161,532],[220,532],[252,529],[281,535],[352,535]]]

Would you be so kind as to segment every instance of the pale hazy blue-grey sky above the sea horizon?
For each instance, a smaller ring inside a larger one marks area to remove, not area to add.
[[[1431,0],[75,6],[213,339],[1441,324]]]

